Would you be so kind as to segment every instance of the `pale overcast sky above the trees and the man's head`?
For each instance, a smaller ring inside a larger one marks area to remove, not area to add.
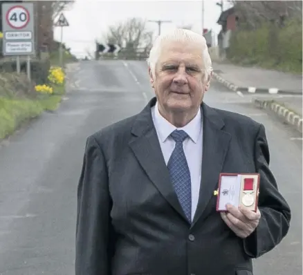
[[[219,0],[218,0],[219,1]],[[221,14],[217,1],[204,1],[204,28],[219,33],[221,26],[216,22]],[[224,1],[224,9],[229,8]],[[193,30],[201,33],[202,1],[101,1],[75,0],[73,8],[64,12],[69,27],[63,28],[63,41],[77,57],[84,57],[87,51],[93,53],[95,39],[100,40],[108,26],[129,17],[140,17],[146,20],[168,20],[162,30],[176,26],[192,25]],[[147,28],[158,33],[156,23],[147,23]],[[55,39],[60,39],[60,28],[55,28]]]

